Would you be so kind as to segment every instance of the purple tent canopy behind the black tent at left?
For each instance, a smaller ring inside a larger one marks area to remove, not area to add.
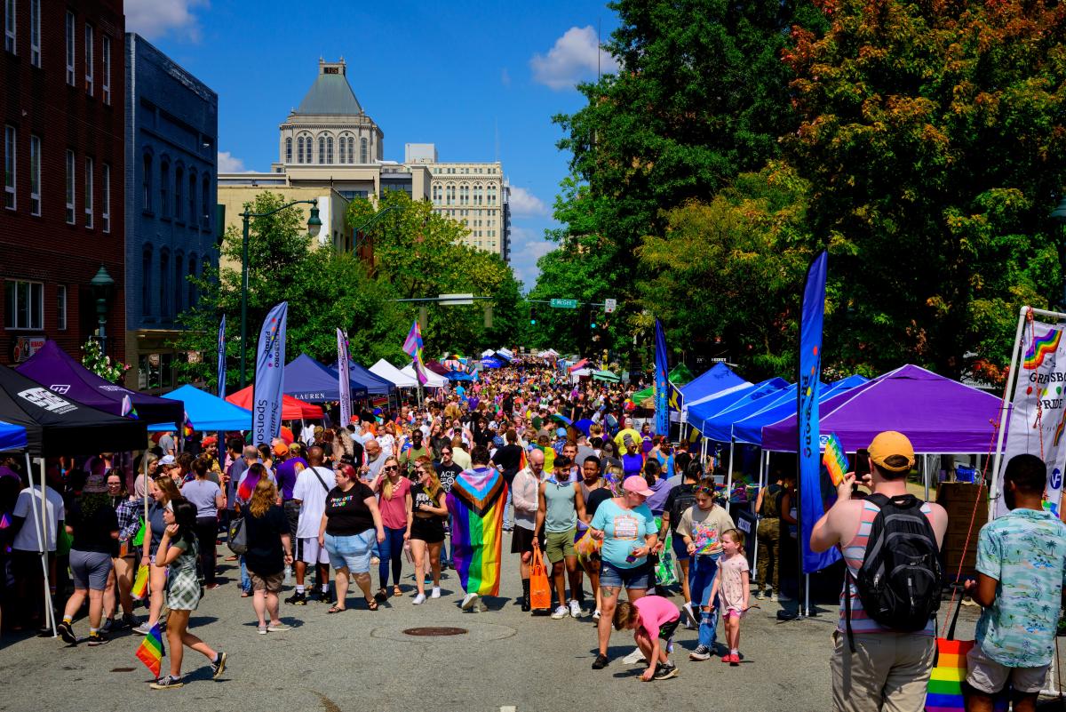
[[[129,395],[136,417],[146,423],[181,423],[184,420],[181,401],[139,393],[104,381],[51,340],[15,370],[71,401],[114,416],[124,415],[123,398]]]

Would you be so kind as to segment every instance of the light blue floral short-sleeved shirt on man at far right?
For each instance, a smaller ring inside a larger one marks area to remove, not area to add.
[[[1066,524],[1050,512],[1013,509],[981,529],[978,571],[996,600],[978,621],[978,645],[1007,667],[1051,662],[1066,578]]]

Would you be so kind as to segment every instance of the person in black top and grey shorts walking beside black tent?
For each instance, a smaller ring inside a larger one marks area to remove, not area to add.
[[[108,486],[102,474],[91,474],[66,513],[67,534],[70,543],[70,572],[74,575],[74,594],[67,599],[59,633],[70,645],[78,644],[71,621],[88,596],[88,645],[103,645],[108,637],[100,632],[103,616],[103,590],[111,575],[111,559],[117,552],[118,519],[108,497]]]

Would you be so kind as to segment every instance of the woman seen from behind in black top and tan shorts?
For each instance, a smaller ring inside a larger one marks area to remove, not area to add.
[[[277,487],[262,478],[252,493],[244,518],[248,550],[244,561],[252,579],[252,608],[259,618],[259,634],[289,630],[278,617],[277,595],[286,565],[292,565],[292,539],[285,511],[277,504]],[[266,622],[270,614],[270,624]]]

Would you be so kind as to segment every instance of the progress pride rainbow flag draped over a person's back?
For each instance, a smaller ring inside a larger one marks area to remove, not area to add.
[[[468,594],[500,593],[500,550],[507,483],[491,467],[464,470],[448,492],[452,515],[452,559]]]

